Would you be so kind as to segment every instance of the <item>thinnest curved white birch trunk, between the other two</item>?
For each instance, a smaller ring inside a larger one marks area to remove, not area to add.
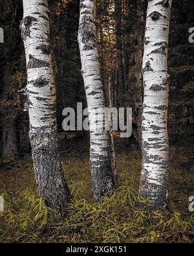
[[[96,1],[80,1],[78,41],[91,135],[91,177],[94,200],[114,188],[109,149],[109,134],[102,129],[104,121],[96,123],[96,109],[105,108],[100,62],[96,42]]]

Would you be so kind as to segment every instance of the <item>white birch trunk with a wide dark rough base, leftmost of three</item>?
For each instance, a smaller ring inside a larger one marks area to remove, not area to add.
[[[32,159],[39,196],[64,216],[70,192],[58,150],[56,87],[50,50],[47,0],[23,0],[21,36],[25,44]]]

